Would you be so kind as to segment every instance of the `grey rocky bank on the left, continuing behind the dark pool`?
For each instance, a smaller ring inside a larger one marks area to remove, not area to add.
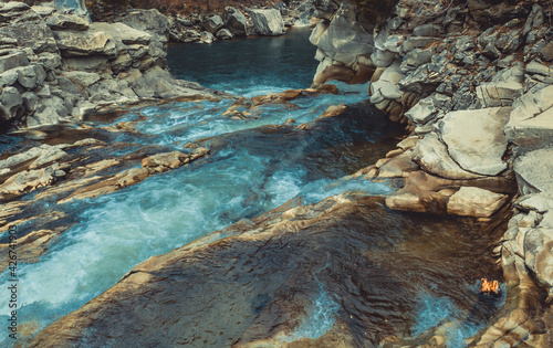
[[[291,7],[227,8],[225,20],[132,9],[92,22],[85,9],[0,3],[0,131],[79,123],[92,113],[160,98],[218,98],[217,91],[171,76],[168,42],[281,35],[285,27],[310,23],[311,2]]]

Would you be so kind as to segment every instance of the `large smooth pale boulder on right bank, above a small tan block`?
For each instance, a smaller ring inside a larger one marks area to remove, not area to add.
[[[510,107],[493,107],[446,114],[439,128],[451,158],[462,169],[479,175],[495,176],[505,170],[503,127],[510,112]]]

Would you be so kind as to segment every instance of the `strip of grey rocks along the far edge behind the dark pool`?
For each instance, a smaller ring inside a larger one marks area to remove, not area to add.
[[[314,12],[312,0],[291,2],[286,7],[227,7],[223,13],[170,17],[170,39],[175,42],[212,43],[246,35],[282,35],[285,28],[310,24]]]

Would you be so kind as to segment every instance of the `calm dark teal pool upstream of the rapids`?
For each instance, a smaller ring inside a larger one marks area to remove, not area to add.
[[[180,78],[239,95],[306,88],[317,64],[310,33],[303,28],[285,36],[175,45],[169,67]]]

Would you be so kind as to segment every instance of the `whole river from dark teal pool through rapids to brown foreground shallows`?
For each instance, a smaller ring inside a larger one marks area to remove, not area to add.
[[[66,179],[81,189],[43,188],[17,202],[20,235],[66,229],[19,265],[19,344],[366,347],[440,338],[460,347],[484,327],[504,302],[479,294],[482,276],[500,278],[492,250],[504,224],[394,212],[380,196],[396,182],[348,177],[394,149],[401,127],[363,102],[367,85],[290,92],[314,73],[307,35],[170,49],[174,74],[238,97],[2,138],[21,148],[31,136],[50,147],[97,139],[61,155],[83,166],[84,179]],[[157,165],[160,152],[173,154],[169,165]],[[122,169],[145,175],[121,178]],[[116,192],[84,186],[87,171],[115,175],[107,182]],[[7,270],[0,287],[9,283]],[[1,335],[2,346],[13,345]]]

